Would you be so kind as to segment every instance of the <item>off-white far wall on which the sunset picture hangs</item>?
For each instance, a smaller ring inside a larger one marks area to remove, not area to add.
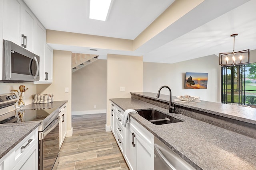
[[[172,96],[200,96],[201,100],[220,102],[221,67],[216,55],[201,57],[174,64],[144,63],[143,91],[157,93],[163,86],[169,86]],[[184,89],[185,72],[208,73],[207,89]],[[167,89],[161,94],[169,94]]]

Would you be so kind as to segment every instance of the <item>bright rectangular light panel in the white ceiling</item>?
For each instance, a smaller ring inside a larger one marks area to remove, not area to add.
[[[112,0],[90,0],[90,19],[106,21]]]

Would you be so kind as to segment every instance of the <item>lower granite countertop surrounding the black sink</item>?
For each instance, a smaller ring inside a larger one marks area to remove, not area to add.
[[[136,113],[130,114],[155,137],[198,170],[255,170],[256,140],[190,117],[168,113],[134,98],[110,99],[126,109],[156,109],[182,120],[154,125]]]

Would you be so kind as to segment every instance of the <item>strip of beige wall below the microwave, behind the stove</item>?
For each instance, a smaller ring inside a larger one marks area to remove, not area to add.
[[[0,83],[0,94],[10,93],[11,90],[19,90],[24,85],[28,90],[25,92],[25,105],[33,103],[33,94],[36,94],[36,84],[30,83]],[[16,92],[15,92],[16,93]],[[16,93],[18,96],[18,94]]]

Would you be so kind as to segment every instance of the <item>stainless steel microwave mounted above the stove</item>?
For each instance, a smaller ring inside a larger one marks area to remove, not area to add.
[[[39,80],[39,56],[3,40],[2,82],[34,82]]]

